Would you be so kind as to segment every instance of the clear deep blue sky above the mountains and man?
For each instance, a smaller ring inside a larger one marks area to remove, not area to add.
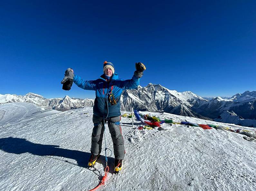
[[[103,61],[141,86],[201,96],[256,90],[256,1],[2,1],[0,94],[94,98],[73,85],[72,67],[97,79]]]

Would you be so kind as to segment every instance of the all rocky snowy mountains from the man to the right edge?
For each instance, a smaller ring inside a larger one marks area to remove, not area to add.
[[[215,97],[208,101],[190,91],[179,93],[159,84],[148,84],[146,87],[125,90],[121,101],[121,109],[125,111],[131,111],[133,107],[140,111],[164,111],[226,123],[233,121],[232,123],[249,127],[253,127],[253,120],[256,120],[256,91],[246,91],[231,98]],[[236,120],[231,117],[234,115]]]

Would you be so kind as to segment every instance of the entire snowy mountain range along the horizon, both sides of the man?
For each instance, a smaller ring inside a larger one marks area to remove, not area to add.
[[[0,95],[0,104],[11,102],[28,102],[58,111],[91,107],[94,104],[93,99],[70,98],[68,95],[64,98],[51,99],[33,93],[24,96]],[[131,111],[133,107],[140,111],[168,112],[256,127],[256,91],[246,91],[225,99],[215,97],[207,100],[190,91],[177,92],[159,84],[149,83],[146,87],[139,86],[137,89],[124,90],[120,102],[122,111]]]

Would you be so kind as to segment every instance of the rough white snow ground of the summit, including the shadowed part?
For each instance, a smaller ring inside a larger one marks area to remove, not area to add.
[[[142,113],[177,122],[256,129],[169,113]],[[123,170],[113,174],[112,154],[107,180],[98,190],[256,190],[256,144],[243,135],[178,124],[164,124],[159,130],[138,130],[139,121],[134,125],[122,118]],[[92,128],[92,107],[57,112],[30,103],[0,105],[0,190],[96,187],[104,175],[105,157],[94,169],[86,168]],[[113,150],[106,131],[107,147]]]

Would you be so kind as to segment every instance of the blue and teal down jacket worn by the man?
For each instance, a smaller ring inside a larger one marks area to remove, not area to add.
[[[81,87],[85,90],[95,90],[96,98],[93,106],[93,114],[99,117],[103,117],[103,112],[104,117],[117,117],[121,115],[120,97],[122,91],[125,89],[136,89],[139,85],[139,81],[140,79],[135,75],[133,75],[132,79],[119,79],[118,74],[116,73],[112,75],[109,82],[104,79],[104,74],[101,75],[99,79],[90,81],[83,80],[80,76],[74,74],[73,79],[73,82],[78,87]],[[111,89],[115,99],[118,100],[117,104],[115,105],[109,103],[108,93],[111,92]],[[105,104],[105,100],[108,102],[108,108],[107,104]]]

